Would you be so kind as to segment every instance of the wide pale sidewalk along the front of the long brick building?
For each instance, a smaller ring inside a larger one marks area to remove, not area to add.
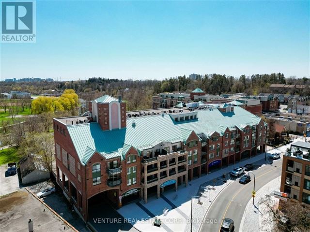
[[[281,147],[281,150],[286,147]],[[279,150],[279,148],[278,148]],[[274,150],[267,152],[267,157]],[[118,212],[128,219],[139,231],[170,231],[181,232],[190,231],[190,216],[191,216],[191,196],[201,196],[200,202],[198,199],[193,199],[193,225],[192,231],[199,231],[199,227],[203,222],[211,203],[217,195],[227,187],[233,180],[226,177],[222,178],[222,174],[229,173],[234,166],[244,166],[247,163],[254,163],[262,166],[269,163],[269,160],[264,160],[264,153],[257,155],[251,159],[242,160],[235,165],[231,165],[218,170],[217,172],[204,175],[200,178],[188,182],[188,186],[179,186],[178,191],[169,190],[161,194],[157,199],[155,196],[148,198],[148,203],[142,201],[139,203],[131,203],[123,206]],[[225,183],[223,181],[226,181]],[[216,182],[215,182],[216,181]],[[214,186],[213,189],[205,189],[207,186]],[[210,200],[209,200],[210,197]],[[161,226],[154,226],[155,217],[161,220]]]

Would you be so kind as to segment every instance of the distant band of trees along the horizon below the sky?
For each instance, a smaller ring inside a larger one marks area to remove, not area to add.
[[[86,81],[64,81],[49,83],[1,83],[0,92],[22,90],[31,94],[62,93],[65,89],[74,89],[80,99],[93,100],[103,94],[111,96],[122,95],[127,101],[127,110],[140,110],[152,106],[152,96],[160,92],[186,92],[189,93],[199,87],[207,94],[239,93],[252,95],[261,92],[271,92],[271,84],[310,85],[307,77],[285,77],[283,73],[253,74],[234,77],[223,74],[199,75],[196,80],[185,75],[166,78],[165,80],[121,80],[101,77],[89,78]],[[290,94],[310,95],[310,89],[304,88],[302,92],[293,89]],[[87,106],[85,107],[86,110]],[[82,110],[84,111],[84,110]]]

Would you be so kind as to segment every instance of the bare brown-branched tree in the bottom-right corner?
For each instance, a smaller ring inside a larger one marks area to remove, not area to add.
[[[269,217],[263,218],[263,224],[276,223],[281,232],[310,231],[310,211],[307,206],[291,200],[280,201],[279,207],[271,197],[264,197],[260,203]]]

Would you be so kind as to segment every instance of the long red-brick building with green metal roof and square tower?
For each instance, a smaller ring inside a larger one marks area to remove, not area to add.
[[[89,116],[54,118],[57,183],[84,220],[95,199],[116,207],[265,151],[267,125],[238,106],[126,113],[108,95]]]

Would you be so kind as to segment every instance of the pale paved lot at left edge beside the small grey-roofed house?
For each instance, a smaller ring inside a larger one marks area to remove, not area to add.
[[[18,175],[8,175],[7,167],[7,165],[0,166],[0,196],[20,189]]]

